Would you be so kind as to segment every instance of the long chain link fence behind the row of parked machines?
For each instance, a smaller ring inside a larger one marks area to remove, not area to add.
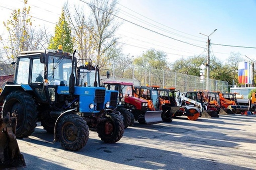
[[[129,74],[126,74],[126,78],[123,78],[123,76],[119,76],[118,74],[120,70],[112,70],[108,80],[129,81],[133,82],[135,86],[149,84],[160,85],[160,87],[175,87],[181,92],[188,90],[206,90],[206,78],[201,80],[199,76],[160,69],[144,70],[143,68],[136,68],[135,66],[126,71],[129,71]],[[228,82],[208,79],[208,90],[228,92]]]

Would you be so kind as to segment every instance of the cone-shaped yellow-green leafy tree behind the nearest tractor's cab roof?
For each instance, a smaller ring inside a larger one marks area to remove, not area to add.
[[[58,49],[59,45],[63,46],[63,51],[73,52],[71,28],[66,21],[64,8],[62,8],[61,17],[55,26],[55,35],[50,39],[49,49]]]

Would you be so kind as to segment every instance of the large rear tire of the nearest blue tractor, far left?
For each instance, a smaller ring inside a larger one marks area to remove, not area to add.
[[[8,111],[17,117],[16,137],[28,137],[37,126],[38,111],[34,98],[25,91],[13,91],[3,104],[3,115]]]

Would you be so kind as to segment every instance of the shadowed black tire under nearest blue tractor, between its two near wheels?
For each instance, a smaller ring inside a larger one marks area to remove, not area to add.
[[[50,116],[49,110],[45,110],[42,114],[44,118],[41,119],[41,125],[48,133],[54,133],[56,119]]]

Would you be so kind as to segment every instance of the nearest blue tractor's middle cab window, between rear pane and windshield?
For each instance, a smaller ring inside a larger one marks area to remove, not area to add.
[[[44,64],[40,62],[40,58],[34,58],[32,61],[31,82],[43,82],[44,80]]]

